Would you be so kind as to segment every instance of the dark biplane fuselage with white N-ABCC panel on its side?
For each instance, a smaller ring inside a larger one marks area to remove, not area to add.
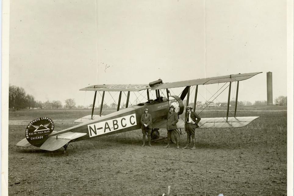
[[[106,116],[101,116],[99,119],[91,120],[89,122],[81,123],[74,127],[58,131],[50,134],[49,137],[59,135],[66,132],[87,133],[83,137],[77,138],[75,141],[86,140],[94,137],[102,137],[111,134],[122,133],[126,131],[136,130],[141,128],[141,116],[144,114],[144,109],[148,108],[152,115],[152,123],[157,120],[167,118],[169,112],[169,102],[163,99],[162,102],[150,101],[146,103],[139,103],[113,112]]]

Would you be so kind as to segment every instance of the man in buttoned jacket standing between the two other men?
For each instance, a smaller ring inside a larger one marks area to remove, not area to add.
[[[165,148],[170,147],[170,137],[173,130],[177,129],[177,122],[179,118],[177,116],[177,112],[174,111],[174,106],[170,106],[170,112],[167,115],[167,145]],[[175,137],[177,143],[177,149],[179,149],[178,138]]]

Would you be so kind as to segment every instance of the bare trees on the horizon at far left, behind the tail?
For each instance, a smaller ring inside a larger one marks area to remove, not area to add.
[[[65,100],[65,105],[59,100],[41,102],[35,100],[34,96],[27,94],[23,87],[17,87],[9,84],[9,109],[73,109],[76,107],[74,99]]]

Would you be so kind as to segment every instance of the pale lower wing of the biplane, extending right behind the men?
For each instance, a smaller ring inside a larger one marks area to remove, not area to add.
[[[228,117],[226,118],[202,118],[198,123],[199,128],[239,128],[244,127],[251,123],[253,120],[259,118],[259,116],[243,116],[243,117]],[[167,120],[163,119],[153,123],[153,128],[167,128]],[[185,128],[185,122],[183,119],[179,119],[177,122],[177,128]]]

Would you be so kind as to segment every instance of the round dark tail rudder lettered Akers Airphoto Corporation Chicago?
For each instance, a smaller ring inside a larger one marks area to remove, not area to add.
[[[48,117],[40,117],[32,120],[26,128],[27,141],[33,146],[40,147],[47,136],[54,130],[53,120]]]

